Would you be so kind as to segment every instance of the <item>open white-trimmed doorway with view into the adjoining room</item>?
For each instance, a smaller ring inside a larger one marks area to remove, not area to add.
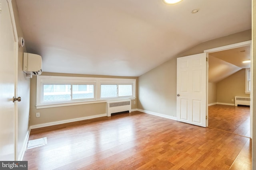
[[[252,95],[245,93],[246,68],[252,68],[252,64],[242,63],[250,60],[251,41],[204,52],[208,54],[208,127],[251,137],[250,107],[234,106],[234,96]],[[252,87],[250,79],[247,83]]]

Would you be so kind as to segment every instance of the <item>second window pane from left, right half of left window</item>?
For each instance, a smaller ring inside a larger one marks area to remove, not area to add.
[[[94,98],[94,85],[72,85],[72,99],[91,99]]]

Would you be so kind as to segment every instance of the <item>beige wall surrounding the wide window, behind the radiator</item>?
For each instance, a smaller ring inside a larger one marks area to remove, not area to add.
[[[42,57],[43,58],[43,57]],[[48,76],[76,76],[76,77],[101,77],[101,78],[131,78],[136,79],[136,89],[138,89],[138,77],[120,77],[120,76],[97,76],[85,74],[60,74],[43,72],[42,75]],[[138,90],[136,90],[136,95]],[[54,121],[63,121],[67,119],[76,119],[93,115],[106,113],[106,102],[96,104],[83,104],[75,106],[51,107],[44,109],[36,109],[36,76],[33,76],[30,83],[30,125],[38,125],[42,123],[50,123]],[[136,104],[134,104],[136,102]],[[137,108],[137,99],[132,100],[132,109]],[[36,117],[36,113],[40,113],[40,117]]]

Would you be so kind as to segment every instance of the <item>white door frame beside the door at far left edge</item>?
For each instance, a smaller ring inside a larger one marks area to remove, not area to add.
[[[14,12],[12,8],[12,0],[7,0],[10,18],[12,21],[12,31],[14,35],[14,70],[15,70],[15,80],[14,80],[14,95],[18,95],[18,33],[16,29],[16,23],[14,18]],[[18,103],[14,102],[14,159],[18,160]]]

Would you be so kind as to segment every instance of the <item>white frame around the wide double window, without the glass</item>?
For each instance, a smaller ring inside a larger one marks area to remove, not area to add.
[[[60,102],[43,102],[43,84],[93,84],[93,99],[74,99]],[[117,98],[100,98],[101,84],[131,84],[132,96]],[[136,79],[126,78],[94,78],[94,77],[69,77],[69,76],[37,76],[36,77],[36,109],[80,104],[102,103],[109,101],[134,100],[136,98]]]

